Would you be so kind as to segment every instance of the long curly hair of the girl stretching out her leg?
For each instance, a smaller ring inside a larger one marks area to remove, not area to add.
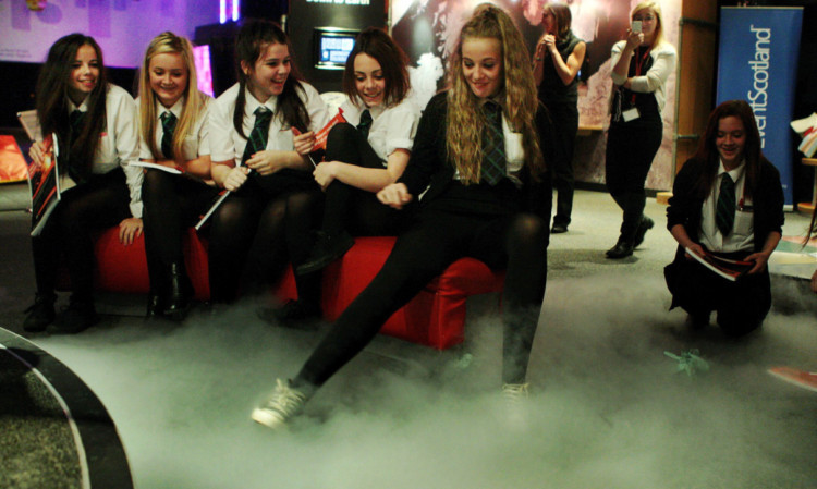
[[[539,175],[545,171],[545,161],[536,129],[538,99],[527,47],[511,17],[489,3],[476,7],[472,17],[463,26],[456,49],[451,57],[451,89],[448,93],[446,129],[449,160],[453,162],[463,183],[479,182],[483,163],[481,136],[487,121],[477,96],[463,74],[462,44],[468,38],[499,40],[504,76],[503,113],[512,130],[522,133],[522,146],[528,171],[534,176]]]

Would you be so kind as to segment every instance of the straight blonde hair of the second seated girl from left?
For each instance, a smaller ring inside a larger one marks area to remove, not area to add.
[[[139,133],[150,148],[154,159],[161,160],[161,149],[156,145],[156,94],[150,88],[150,60],[157,54],[175,53],[182,57],[187,69],[187,87],[184,89],[184,107],[179,118],[175,131],[173,131],[173,159],[180,161],[183,158],[182,145],[195,127],[196,121],[205,110],[207,96],[198,90],[196,64],[193,58],[193,46],[184,37],[176,36],[171,32],[159,34],[150,41],[142,60],[142,73],[139,75]]]

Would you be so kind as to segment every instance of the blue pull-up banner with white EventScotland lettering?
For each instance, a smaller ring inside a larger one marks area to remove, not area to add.
[[[780,170],[786,207],[794,204],[789,123],[802,26],[802,8],[721,8],[717,102],[752,106],[764,155]]]

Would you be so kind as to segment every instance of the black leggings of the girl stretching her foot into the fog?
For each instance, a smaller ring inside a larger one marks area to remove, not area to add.
[[[371,341],[395,310],[462,257],[508,269],[502,379],[523,383],[545,295],[548,239],[548,223],[531,213],[486,218],[424,209],[398,237],[380,272],[338,318],[294,386],[326,382]]]

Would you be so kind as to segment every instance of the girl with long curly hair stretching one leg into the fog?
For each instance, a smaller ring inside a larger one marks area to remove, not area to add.
[[[397,183],[378,193],[401,209],[423,193],[371,283],[336,321],[292,380],[278,380],[252,417],[278,428],[359,353],[382,323],[461,257],[507,268],[503,391],[527,395],[526,371],[547,279],[550,187],[537,124],[536,85],[522,35],[502,10],[480,4],[462,28],[451,88],[420,118],[412,157]],[[541,106],[539,106],[541,107]],[[429,186],[430,185],[430,186]]]

